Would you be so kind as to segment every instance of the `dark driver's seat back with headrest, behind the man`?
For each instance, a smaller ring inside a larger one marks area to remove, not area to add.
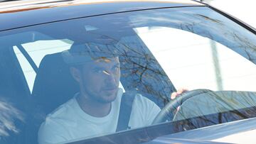
[[[38,128],[47,114],[71,99],[77,92],[79,85],[70,74],[61,52],[43,57],[32,92],[31,143],[37,143]]]

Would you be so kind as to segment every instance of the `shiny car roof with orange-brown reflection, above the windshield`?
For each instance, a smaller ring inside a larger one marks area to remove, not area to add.
[[[24,0],[0,3],[0,31],[125,11],[204,6],[191,0]]]

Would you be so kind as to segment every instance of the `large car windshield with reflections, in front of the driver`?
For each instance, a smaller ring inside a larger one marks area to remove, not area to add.
[[[170,134],[256,116],[256,37],[203,6],[18,28],[1,32],[0,43],[3,143],[68,143],[163,124]],[[181,88],[204,90],[164,119],[159,112]]]

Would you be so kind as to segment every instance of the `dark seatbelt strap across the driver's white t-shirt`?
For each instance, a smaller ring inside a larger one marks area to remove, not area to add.
[[[122,94],[116,132],[127,130],[135,95],[135,92],[124,92]]]

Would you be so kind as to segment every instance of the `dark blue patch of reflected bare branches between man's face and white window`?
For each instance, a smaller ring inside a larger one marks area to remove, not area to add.
[[[97,33],[92,34],[100,35]],[[164,70],[161,70],[154,55],[146,48],[146,45],[144,46],[142,45],[143,43],[140,43],[139,38],[132,37],[131,39],[116,40],[109,35],[101,35],[101,38],[112,39],[113,42],[116,42],[106,44],[105,49],[102,48],[102,52],[114,55],[111,52],[115,50],[119,53],[122,72],[124,72],[122,77],[124,79],[131,79],[126,81],[130,82],[125,84],[126,87],[139,88],[139,92],[146,92],[146,94],[153,95],[159,101],[168,102],[167,97],[174,90],[171,87],[171,81],[166,76]],[[161,83],[156,85],[156,82]],[[166,92],[168,94],[165,94]]]

